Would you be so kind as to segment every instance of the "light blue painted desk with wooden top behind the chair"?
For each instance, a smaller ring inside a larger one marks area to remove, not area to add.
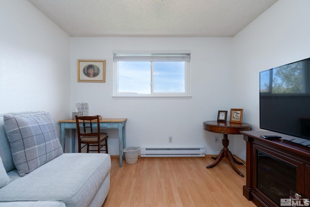
[[[127,121],[126,118],[100,119],[100,129],[105,128],[118,129],[120,167],[123,166],[123,149],[126,147],[126,130],[125,130],[126,121]],[[69,129],[72,130],[71,133],[72,152],[75,152],[75,143],[76,143],[75,134],[77,129],[76,120],[75,119],[61,120],[59,121],[59,123],[61,124],[61,144],[63,150],[65,147],[65,137],[66,137],[65,130]]]

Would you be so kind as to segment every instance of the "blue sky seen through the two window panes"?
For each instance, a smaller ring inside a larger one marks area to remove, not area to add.
[[[151,62],[119,62],[119,93],[151,94]],[[154,92],[184,93],[185,62],[154,62]]]

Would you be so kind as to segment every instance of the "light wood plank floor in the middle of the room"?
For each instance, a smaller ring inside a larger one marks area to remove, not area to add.
[[[207,169],[211,158],[139,158],[119,167],[111,159],[110,191],[103,207],[255,207],[242,194],[246,178],[228,160]],[[237,166],[246,175],[245,165]]]

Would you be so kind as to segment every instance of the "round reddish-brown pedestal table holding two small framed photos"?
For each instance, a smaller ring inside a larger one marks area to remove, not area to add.
[[[244,175],[238,170],[238,168],[234,164],[234,162],[237,164],[242,164],[242,162],[239,162],[238,160],[236,160],[233,157],[231,151],[229,151],[228,149],[228,145],[229,145],[228,134],[240,134],[240,131],[249,131],[251,130],[251,125],[247,123],[206,121],[206,122],[203,122],[203,129],[206,131],[223,134],[223,139],[222,139],[223,149],[220,151],[217,157],[213,157],[215,161],[211,165],[208,165],[207,168],[212,168],[216,166],[223,158],[227,158],[229,163],[233,167],[234,171],[238,175],[244,177]]]

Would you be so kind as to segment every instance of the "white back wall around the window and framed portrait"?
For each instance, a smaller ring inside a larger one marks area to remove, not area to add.
[[[113,99],[113,50],[190,50],[191,99]],[[77,60],[106,60],[106,82],[78,82]],[[128,118],[127,146],[205,146],[220,149],[202,122],[230,110],[232,38],[93,37],[71,38],[71,109],[88,102],[90,114]],[[109,154],[118,154],[115,130],[109,130]],[[168,143],[168,137],[173,143]]]

